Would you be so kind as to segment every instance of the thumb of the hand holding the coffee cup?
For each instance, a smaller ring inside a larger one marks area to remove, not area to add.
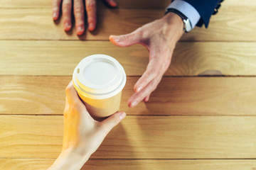
[[[110,130],[112,130],[112,128],[114,128],[114,126],[116,126],[118,123],[120,123],[121,120],[123,120],[125,116],[126,116],[125,112],[114,113],[109,118],[107,118],[101,122],[104,124],[102,127],[106,128],[107,133],[108,133],[108,132],[110,132]]]

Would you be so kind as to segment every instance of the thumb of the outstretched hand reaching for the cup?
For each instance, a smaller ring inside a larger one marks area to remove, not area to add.
[[[141,42],[141,34],[138,31],[129,33],[127,35],[110,35],[110,42],[119,47],[129,47]]]

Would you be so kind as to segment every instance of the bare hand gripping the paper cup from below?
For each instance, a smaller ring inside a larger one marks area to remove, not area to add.
[[[95,121],[80,101],[72,81],[66,88],[63,149],[50,169],[80,169],[123,118],[114,113],[102,122]]]

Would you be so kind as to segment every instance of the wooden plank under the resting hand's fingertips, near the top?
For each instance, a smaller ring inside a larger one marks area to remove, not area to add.
[[[236,11],[235,13],[233,11]],[[0,11],[1,40],[108,40],[109,35],[130,33],[163,16],[160,9],[107,9],[99,11],[95,32],[78,37],[75,30],[65,33],[63,18],[53,23],[50,8]],[[252,41],[256,38],[255,8],[223,9],[213,16],[208,29],[195,28],[182,41]],[[242,27],[241,27],[242,26]]]

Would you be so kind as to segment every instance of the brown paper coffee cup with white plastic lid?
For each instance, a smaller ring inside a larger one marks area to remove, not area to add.
[[[124,68],[108,55],[85,57],[73,72],[73,85],[95,120],[119,110],[125,83]]]

